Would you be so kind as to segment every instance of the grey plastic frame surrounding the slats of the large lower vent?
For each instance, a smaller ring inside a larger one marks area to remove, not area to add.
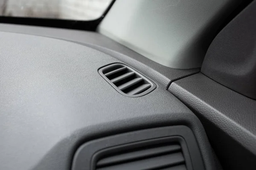
[[[107,149],[111,150],[111,147],[112,149],[118,147],[119,150],[122,150],[122,148],[128,147],[128,144],[132,148],[135,145],[146,146],[150,143],[159,144],[163,142],[179,142],[182,146],[187,170],[205,169],[192,131],[189,127],[181,125],[139,130],[87,142],[76,151],[72,170],[94,170],[99,154],[102,154],[99,152],[106,152]],[[108,154],[110,154],[110,151],[108,151]]]

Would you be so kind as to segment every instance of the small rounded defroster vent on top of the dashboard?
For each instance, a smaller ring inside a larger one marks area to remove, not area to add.
[[[156,85],[142,74],[120,63],[99,69],[99,74],[125,96],[143,96],[156,88]]]

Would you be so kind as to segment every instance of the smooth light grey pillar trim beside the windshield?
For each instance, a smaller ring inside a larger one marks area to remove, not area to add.
[[[99,32],[171,68],[201,67],[240,0],[116,0]]]

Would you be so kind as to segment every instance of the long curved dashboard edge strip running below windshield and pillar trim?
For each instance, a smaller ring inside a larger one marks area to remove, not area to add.
[[[95,32],[36,26],[19,26],[13,24],[0,24],[0,31],[53,37],[86,45],[115,57],[116,59],[125,62],[127,65],[132,65],[134,69],[140,71],[146,77],[153,77],[158,85],[161,85],[166,89],[174,80],[191,74],[196,74],[200,71],[199,68],[181,70],[160,65],[157,62],[153,62],[131,49],[126,48],[118,42]]]

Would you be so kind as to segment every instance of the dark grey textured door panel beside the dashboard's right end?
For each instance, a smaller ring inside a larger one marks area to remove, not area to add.
[[[255,170],[255,100],[201,73],[173,82],[169,91],[201,119],[224,169]]]

